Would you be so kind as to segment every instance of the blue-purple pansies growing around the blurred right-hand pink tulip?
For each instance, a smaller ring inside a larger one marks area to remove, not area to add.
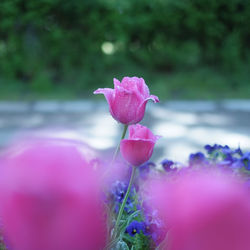
[[[162,169],[166,174],[176,173],[178,176],[185,174],[186,171],[192,170],[193,168],[210,168],[218,167],[223,169],[229,169],[231,171],[243,171],[244,174],[248,174],[247,170],[250,170],[250,152],[243,153],[240,148],[231,149],[229,146],[225,145],[206,145],[206,152],[196,152],[189,155],[187,164],[182,164],[179,162],[174,162],[170,159],[164,159],[161,161]],[[137,180],[142,182],[147,182],[148,177],[152,173],[160,173],[156,164],[152,161],[147,161],[146,163],[138,167]],[[250,189],[250,175],[249,178],[246,177],[246,185]],[[137,183],[137,182],[136,182]],[[133,220],[126,227],[125,233],[134,237],[136,234],[140,236],[147,236],[151,239],[151,244],[153,246],[158,246],[165,238],[166,232],[168,231],[167,226],[160,219],[157,210],[150,210],[149,205],[144,201],[142,205],[140,203],[140,197],[137,196],[135,199],[135,191],[139,191],[139,185],[133,185],[133,189],[129,195],[129,198],[125,205],[125,211],[127,216],[131,215],[135,211],[138,211],[138,216],[134,217]],[[122,181],[116,181],[111,190],[112,201],[115,204],[115,212],[119,211],[119,207],[124,199],[125,193],[127,191],[128,185]],[[139,201],[139,202],[138,202]],[[150,212],[149,212],[150,211]]]

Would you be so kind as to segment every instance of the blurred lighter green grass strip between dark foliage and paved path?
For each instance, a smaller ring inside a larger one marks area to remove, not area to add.
[[[123,76],[143,77],[151,93],[161,100],[250,98],[250,73],[247,70],[225,73],[211,67],[200,67],[166,73],[145,71],[142,67],[130,65],[94,74],[78,72],[60,83],[50,82],[46,77],[30,83],[1,79],[0,100],[89,98],[93,97],[96,88],[112,88],[113,77],[121,80]]]

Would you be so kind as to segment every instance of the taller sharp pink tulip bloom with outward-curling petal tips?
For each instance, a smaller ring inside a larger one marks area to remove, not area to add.
[[[127,125],[143,119],[148,100],[159,102],[157,96],[150,95],[143,78],[138,77],[124,77],[121,82],[114,78],[114,89],[97,89],[94,94],[104,94],[113,118]]]

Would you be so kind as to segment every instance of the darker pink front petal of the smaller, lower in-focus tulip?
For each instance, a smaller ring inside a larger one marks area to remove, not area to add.
[[[149,140],[124,139],[120,145],[121,154],[132,166],[140,166],[150,159],[154,144]]]

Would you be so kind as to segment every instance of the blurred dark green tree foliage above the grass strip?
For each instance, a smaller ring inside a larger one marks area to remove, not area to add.
[[[49,91],[98,85],[130,62],[237,71],[250,62],[249,20],[246,0],[1,0],[1,77]]]

